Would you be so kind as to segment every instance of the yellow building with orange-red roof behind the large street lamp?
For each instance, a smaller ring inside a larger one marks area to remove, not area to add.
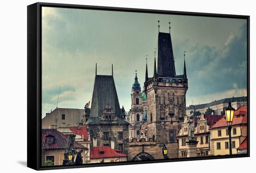
[[[247,137],[247,106],[235,111],[231,129],[232,154]],[[212,155],[229,155],[229,131],[226,117],[223,116],[210,128],[210,147]]]

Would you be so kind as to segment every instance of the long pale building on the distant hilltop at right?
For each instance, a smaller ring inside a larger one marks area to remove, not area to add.
[[[247,96],[223,98],[211,103],[189,105],[189,107],[186,108],[186,115],[189,115],[191,110],[194,112],[205,113],[208,108],[213,109],[214,114],[216,115],[224,115],[223,110],[229,106],[229,101],[234,109],[238,109],[240,106],[247,105]]]

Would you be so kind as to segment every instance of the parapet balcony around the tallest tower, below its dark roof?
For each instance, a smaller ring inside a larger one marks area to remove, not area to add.
[[[144,83],[145,90],[151,89],[153,86],[188,88],[188,79],[175,77],[152,77]]]

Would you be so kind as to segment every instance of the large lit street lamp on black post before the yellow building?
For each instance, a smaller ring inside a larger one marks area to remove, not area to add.
[[[235,109],[232,108],[231,102],[229,101],[229,106],[228,108],[225,109],[225,114],[226,114],[226,121],[228,125],[228,130],[229,130],[229,155],[232,155],[232,145],[231,145],[231,126],[233,122],[233,117],[234,117]]]

